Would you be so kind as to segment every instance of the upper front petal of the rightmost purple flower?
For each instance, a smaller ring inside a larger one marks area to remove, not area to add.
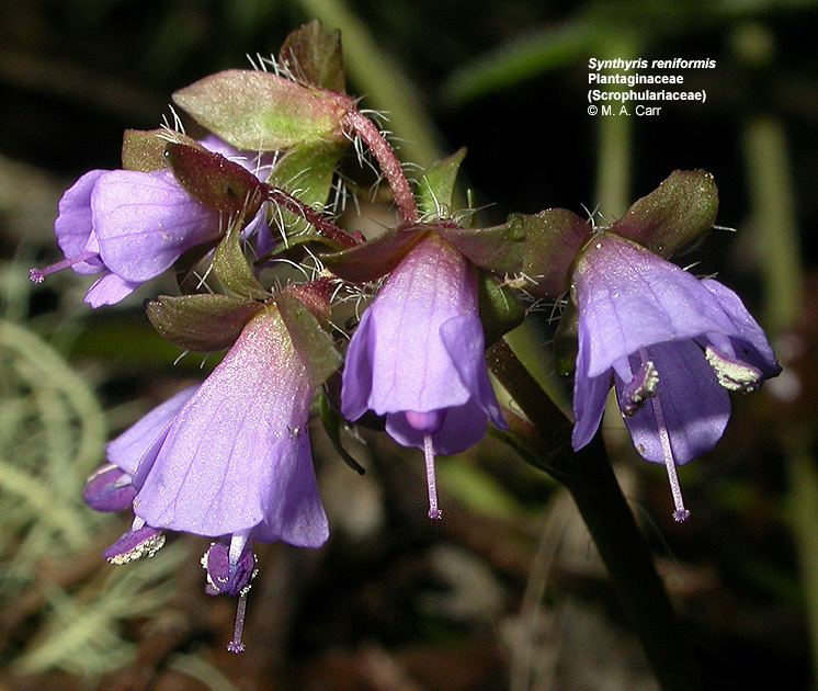
[[[575,286],[580,329],[593,335],[587,340],[589,377],[654,343],[736,332],[698,279],[611,233],[584,250]]]

